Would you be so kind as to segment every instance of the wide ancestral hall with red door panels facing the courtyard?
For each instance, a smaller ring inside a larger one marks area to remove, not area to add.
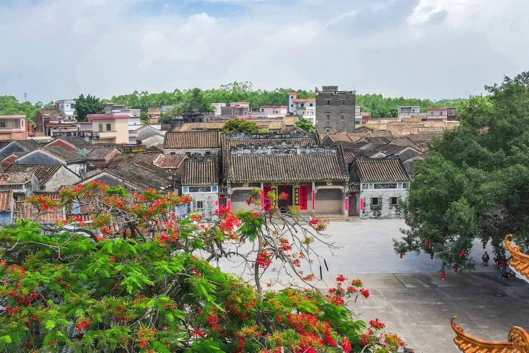
[[[226,158],[225,179],[226,203],[234,210],[253,207],[245,200],[256,187],[265,193],[285,192],[286,199],[277,202],[281,211],[299,206],[303,214],[338,219],[346,216],[344,193],[348,174],[340,146],[283,142],[232,147]],[[270,205],[268,200],[262,201],[265,209]]]

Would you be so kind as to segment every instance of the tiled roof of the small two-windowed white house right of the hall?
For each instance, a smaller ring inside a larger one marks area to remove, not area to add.
[[[366,158],[355,161],[362,182],[396,182],[409,180],[402,161],[398,158]]]

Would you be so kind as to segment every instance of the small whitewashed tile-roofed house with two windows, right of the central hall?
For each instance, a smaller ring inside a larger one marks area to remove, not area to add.
[[[350,202],[356,203],[350,206],[360,218],[403,218],[400,201],[408,196],[410,177],[398,157],[355,158],[349,171]]]

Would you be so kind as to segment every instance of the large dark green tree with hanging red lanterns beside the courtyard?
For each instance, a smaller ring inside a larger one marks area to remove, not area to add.
[[[397,252],[426,251],[443,267],[472,269],[476,240],[505,258],[503,239],[529,250],[529,73],[486,86],[461,105],[461,126],[417,162]]]

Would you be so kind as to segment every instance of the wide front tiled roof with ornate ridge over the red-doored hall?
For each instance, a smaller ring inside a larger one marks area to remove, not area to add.
[[[228,178],[235,183],[345,180],[341,148],[262,146],[234,147],[230,151]],[[312,150],[312,151],[311,151]]]

